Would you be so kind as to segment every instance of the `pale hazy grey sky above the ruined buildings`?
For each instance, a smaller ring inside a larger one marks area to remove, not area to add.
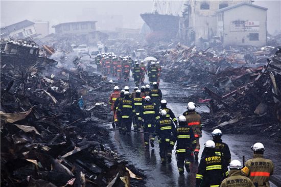
[[[153,1],[1,1],[1,25],[29,19],[50,21],[50,26],[67,21],[96,20],[97,28],[140,28],[143,20],[139,14],[151,12]],[[180,12],[180,1],[171,3]],[[281,30],[281,0],[255,1],[268,8],[268,31]],[[108,22],[105,20],[114,20]],[[111,27],[105,28],[105,24]]]

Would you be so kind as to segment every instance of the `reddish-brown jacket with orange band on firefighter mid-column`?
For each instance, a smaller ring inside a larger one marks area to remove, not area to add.
[[[194,132],[194,137],[202,137],[202,132],[200,130],[201,125],[201,116],[195,111],[189,112],[188,115],[185,116],[186,123],[190,126]]]

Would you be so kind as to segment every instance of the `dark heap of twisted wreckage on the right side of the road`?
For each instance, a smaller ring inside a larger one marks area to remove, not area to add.
[[[205,127],[222,128],[231,133],[264,133],[281,138],[281,48],[276,49],[266,66],[245,72],[242,76],[248,77],[244,78],[247,81],[237,83],[240,86],[229,89],[223,95],[214,86],[205,87],[212,98],[210,113],[205,116],[208,119]],[[230,85],[231,80],[233,77],[223,80],[224,85]]]

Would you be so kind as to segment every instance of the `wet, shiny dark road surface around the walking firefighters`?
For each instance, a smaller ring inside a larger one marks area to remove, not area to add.
[[[121,84],[124,86],[125,84]],[[133,89],[133,82],[129,82],[130,90]],[[173,110],[176,116],[179,116],[186,110],[187,103],[183,103],[179,98],[182,96],[188,96],[190,92],[194,90],[183,90],[181,88],[173,88],[170,83],[161,83],[160,89],[163,93],[163,99],[167,99],[168,107]],[[173,99],[174,98],[174,99]],[[202,105],[197,108],[198,112],[207,111],[208,108]],[[111,124],[108,124],[111,127]],[[209,132],[203,131],[202,138],[200,138],[200,153],[204,143],[212,139]],[[258,137],[253,135],[228,135],[224,134],[222,139],[228,144],[231,151],[232,159],[239,159],[242,162],[242,156],[245,155],[245,159],[252,157],[251,145],[255,142],[262,142],[266,147],[266,157],[273,160],[275,164],[274,175],[280,179],[281,165],[278,161],[281,158],[281,151],[277,148],[276,144],[272,143],[270,139],[264,137]],[[110,132],[110,140],[114,146],[116,152],[118,152],[124,159],[129,161],[135,168],[145,171],[147,176],[146,186],[195,186],[197,163],[192,163],[191,172],[184,172],[184,175],[178,174],[176,165],[175,150],[172,152],[172,162],[166,163],[166,165],[160,164],[159,145],[155,144],[152,149],[146,149],[143,141],[143,134],[132,132],[131,135],[120,134],[118,130]],[[271,186],[276,186],[271,183]]]

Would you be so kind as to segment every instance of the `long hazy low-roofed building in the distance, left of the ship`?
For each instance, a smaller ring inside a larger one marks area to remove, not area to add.
[[[53,26],[56,34],[76,34],[87,35],[90,32],[96,31],[97,21],[77,21],[77,22],[65,22]]]

